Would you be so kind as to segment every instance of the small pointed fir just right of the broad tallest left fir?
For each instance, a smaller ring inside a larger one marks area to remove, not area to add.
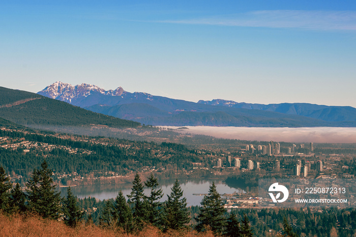
[[[75,227],[83,217],[83,213],[77,205],[77,200],[73,196],[71,187],[67,188],[67,198],[63,201],[63,213],[64,223],[70,227]]]

